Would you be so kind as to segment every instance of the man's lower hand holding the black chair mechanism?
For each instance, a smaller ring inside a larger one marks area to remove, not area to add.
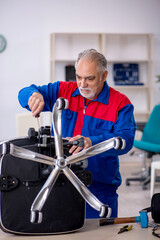
[[[79,139],[81,137],[83,137],[83,136],[77,135],[77,136],[75,136],[73,138],[70,138],[69,142],[75,141],[75,140],[77,140],[77,139]],[[75,153],[80,152],[82,150],[82,148],[83,148],[83,150],[85,150],[85,149],[87,149],[87,148],[92,146],[92,141],[91,141],[91,139],[89,137],[83,137],[83,138],[84,138],[84,147],[77,147],[77,146],[73,145],[71,147],[71,149],[69,150],[69,153],[75,154]]]

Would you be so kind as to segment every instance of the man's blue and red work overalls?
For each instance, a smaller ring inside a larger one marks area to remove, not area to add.
[[[105,82],[102,92],[95,100],[81,96],[76,82],[55,82],[44,86],[31,85],[19,92],[19,102],[29,109],[28,100],[33,92],[43,95],[43,111],[52,111],[57,98],[68,99],[69,107],[62,112],[62,135],[89,137],[92,145],[120,136],[126,140],[124,150],[111,149],[88,159],[88,169],[93,182],[90,191],[104,204],[112,208],[111,217],[117,217],[117,188],[121,184],[118,155],[127,153],[133,146],[136,124],[133,105],[122,93]],[[97,218],[99,213],[86,206],[86,218]]]

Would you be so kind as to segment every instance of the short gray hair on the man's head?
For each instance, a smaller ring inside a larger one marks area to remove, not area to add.
[[[105,56],[103,54],[97,52],[95,49],[87,49],[87,50],[84,50],[83,52],[79,53],[78,58],[75,62],[75,69],[77,67],[78,62],[81,59],[86,59],[86,60],[97,62],[97,67],[98,67],[97,70],[102,74],[107,70],[107,60],[106,60]]]

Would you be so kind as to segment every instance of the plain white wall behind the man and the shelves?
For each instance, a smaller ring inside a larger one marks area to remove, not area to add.
[[[160,74],[159,23],[159,0],[0,0],[0,34],[7,39],[0,53],[0,140],[16,136],[15,115],[24,112],[19,90],[50,80],[50,33],[153,33]]]

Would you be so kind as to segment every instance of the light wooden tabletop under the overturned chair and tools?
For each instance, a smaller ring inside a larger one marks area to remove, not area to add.
[[[97,219],[86,220],[83,228],[68,234],[48,236],[23,236],[4,233],[0,230],[0,240],[156,240],[152,235],[152,228],[141,228],[140,224],[133,223],[132,230],[117,234],[120,227],[126,224],[99,226]],[[130,225],[130,224],[129,224]]]

